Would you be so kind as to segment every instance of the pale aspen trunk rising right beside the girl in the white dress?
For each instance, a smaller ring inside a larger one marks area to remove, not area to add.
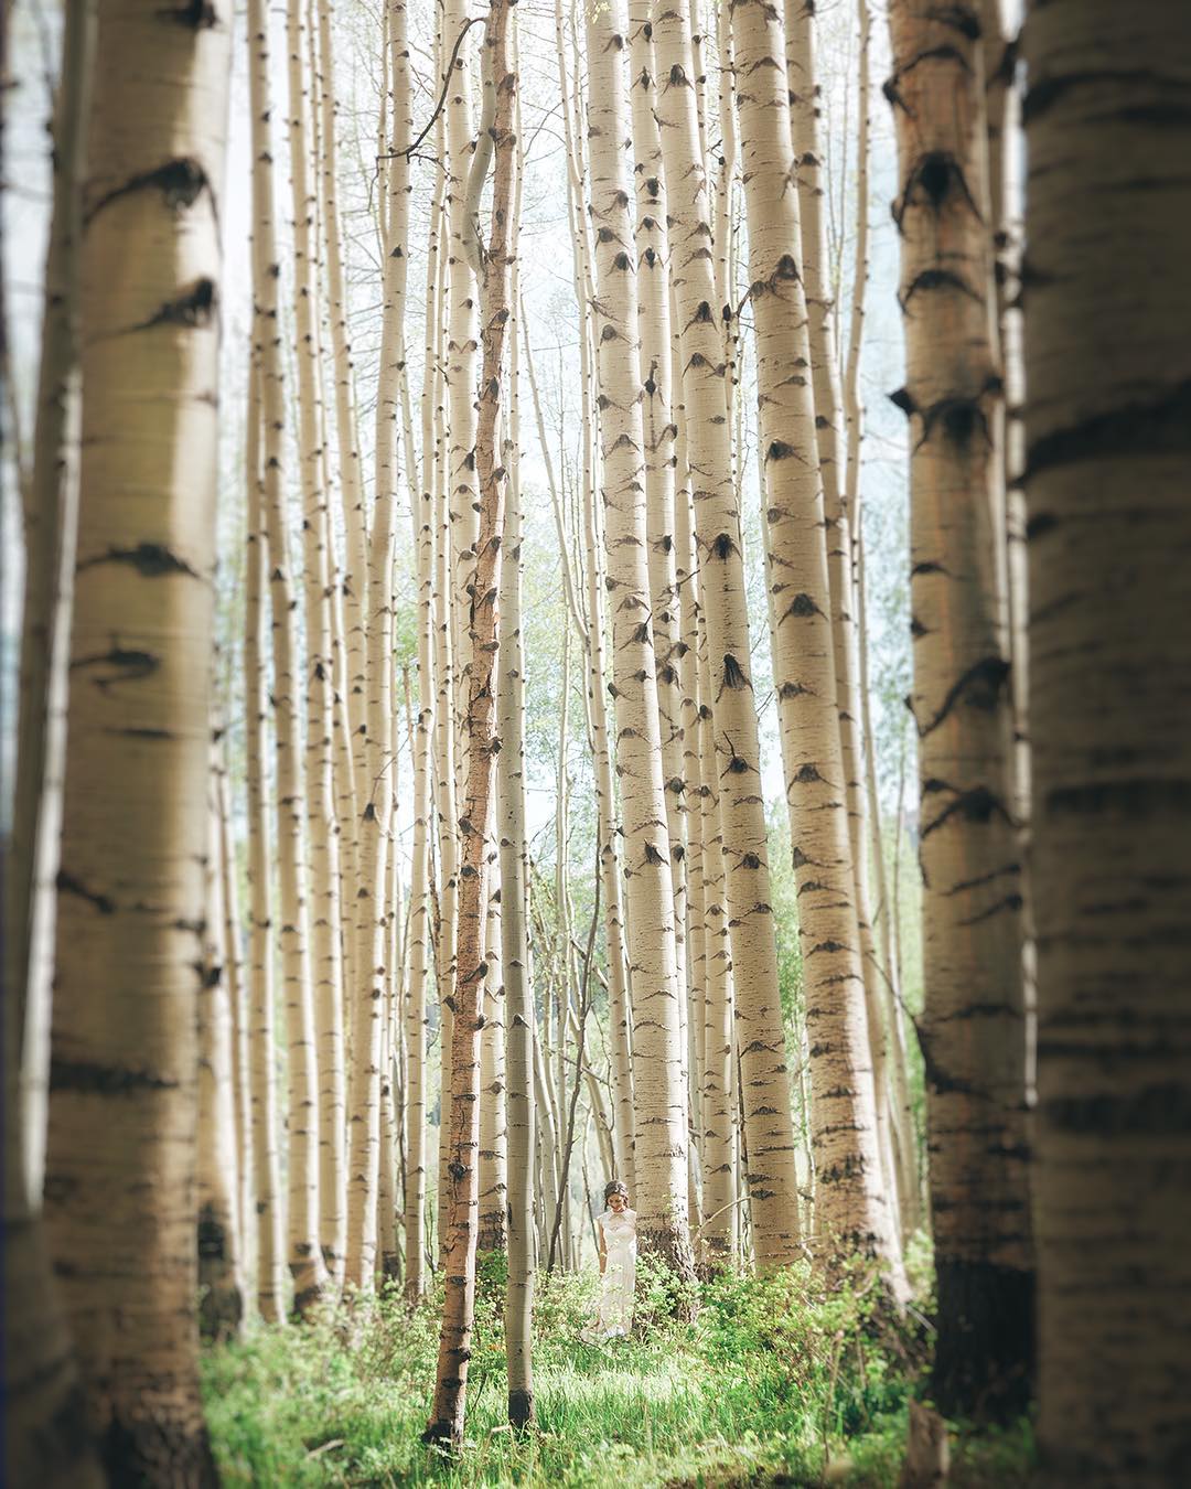
[[[634,1200],[642,1242],[676,1270],[689,1272],[686,1062],[679,1010],[685,989],[679,987],[674,965],[674,898],[651,624],[643,389],[624,153],[628,134],[624,19],[619,0],[588,13],[587,54],[606,585],[633,969]]]

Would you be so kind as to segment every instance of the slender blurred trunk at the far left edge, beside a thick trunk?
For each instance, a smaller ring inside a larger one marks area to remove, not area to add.
[[[0,21],[0,46],[7,45],[7,16]],[[34,456],[30,499],[43,523],[60,523],[57,542],[52,532],[42,527],[36,535],[25,529],[25,615],[22,628],[21,700],[16,764],[16,798],[9,841],[0,849],[0,870],[6,876],[4,901],[4,996],[0,998],[3,1018],[3,1288],[4,1288],[4,1443],[3,1473],[15,1485],[39,1485],[45,1489],[97,1489],[104,1482],[98,1456],[88,1432],[85,1400],[79,1380],[74,1345],[70,1339],[64,1310],[52,1284],[51,1258],[42,1219],[42,1176],[45,1169],[45,1112],[27,1097],[28,1081],[37,1081],[48,1059],[39,1059],[39,1071],[31,1065],[21,1069],[22,1032],[25,1048],[33,1048],[30,1035],[40,1023],[48,1029],[51,1017],[49,980],[39,986],[37,940],[33,923],[39,911],[30,902],[39,895],[37,865],[37,806],[42,792],[49,792],[52,779],[52,733],[42,707],[52,709],[54,673],[61,686],[66,682],[66,645],[68,618],[54,615],[54,582],[66,587],[73,578],[74,552],[70,535],[76,512],[66,497],[77,499],[77,316],[79,316],[79,225],[80,191],[85,171],[83,143],[89,116],[86,85],[91,79],[94,48],[94,12],[89,6],[67,10],[63,40],[63,74],[58,115],[54,125],[55,177],[54,220],[51,225],[51,255],[46,265],[46,308],[42,326],[42,365],[39,369],[39,404],[36,448],[45,442],[39,471]],[[0,73],[7,73],[7,58],[0,58]],[[3,134],[0,134],[0,146]],[[0,174],[7,162],[0,153]],[[7,331],[0,326],[0,337]],[[7,354],[7,345],[4,345]],[[7,368],[7,362],[4,363]],[[45,398],[45,389],[55,396]],[[7,418],[4,418],[7,427]],[[61,505],[58,505],[61,500]],[[55,566],[51,549],[58,548]],[[39,551],[40,549],[40,551]],[[43,566],[39,578],[39,567]],[[48,581],[49,588],[39,585]],[[52,627],[58,627],[52,634]],[[34,648],[30,661],[25,648]],[[55,651],[60,651],[55,669]],[[45,701],[42,701],[45,700]],[[46,734],[37,743],[42,728]],[[48,736],[48,737],[46,737]],[[61,742],[58,747],[61,773]],[[28,816],[19,819],[21,812]],[[42,798],[42,820],[49,826],[46,801]],[[18,825],[18,819],[21,825]],[[57,832],[52,834],[57,840]],[[45,843],[46,838],[42,838]],[[46,864],[49,873],[49,864]],[[49,884],[40,896],[45,910],[54,910]],[[48,935],[52,941],[52,932]],[[51,956],[46,962],[52,965]],[[33,968],[30,975],[30,968]],[[27,983],[28,978],[28,983]],[[25,996],[25,989],[31,992]],[[24,1030],[22,1030],[24,1018]],[[45,1035],[42,1042],[45,1042]],[[34,1056],[34,1059],[37,1059]],[[40,1075],[45,1085],[45,1075]],[[43,1103],[42,1103],[43,1105]],[[36,1154],[31,1160],[30,1155]]]

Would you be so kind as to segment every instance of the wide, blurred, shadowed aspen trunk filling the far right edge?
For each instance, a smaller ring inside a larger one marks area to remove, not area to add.
[[[1191,15],[1032,3],[1024,46],[1039,1456],[1157,1489],[1191,1386]]]

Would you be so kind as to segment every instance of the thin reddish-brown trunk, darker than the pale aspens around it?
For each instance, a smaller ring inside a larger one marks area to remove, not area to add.
[[[479,478],[479,535],[475,569],[467,585],[470,673],[467,676],[467,792],[460,814],[463,864],[460,870],[457,975],[451,989],[451,1132],[447,1179],[445,1263],[435,1400],[424,1437],[457,1452],[463,1443],[472,1324],[475,1318],[475,1254],[478,1231],[479,1144],[479,1027],[487,981],[485,911],[488,843],[496,755],[496,680],[499,667],[499,593],[508,469],[500,462],[499,424],[511,319],[511,214],[514,191],[514,134],[517,73],[509,66],[508,0],[493,0],[484,34],[484,80],[491,100],[485,112],[487,140],[481,135],[467,197],[479,203],[482,177],[493,165],[491,231],[482,250],[484,295],[481,335],[484,363],[479,383],[475,466]],[[476,177],[479,177],[476,180]]]

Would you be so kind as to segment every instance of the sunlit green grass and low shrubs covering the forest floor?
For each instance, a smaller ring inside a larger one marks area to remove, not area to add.
[[[207,1419],[225,1485],[542,1485],[567,1489],[728,1489],[895,1485],[907,1400],[923,1368],[911,1333],[872,1306],[871,1279],[822,1295],[808,1273],[724,1276],[697,1298],[639,1269],[637,1336],[591,1345],[596,1278],[537,1285],[537,1425],[506,1421],[503,1258],[484,1258],[456,1462],[424,1447],[438,1298],[412,1313],[386,1292],[258,1327],[204,1352]],[[694,1322],[674,1303],[697,1303]],[[959,1432],[950,1483],[984,1489],[1030,1476],[1027,1422]]]

